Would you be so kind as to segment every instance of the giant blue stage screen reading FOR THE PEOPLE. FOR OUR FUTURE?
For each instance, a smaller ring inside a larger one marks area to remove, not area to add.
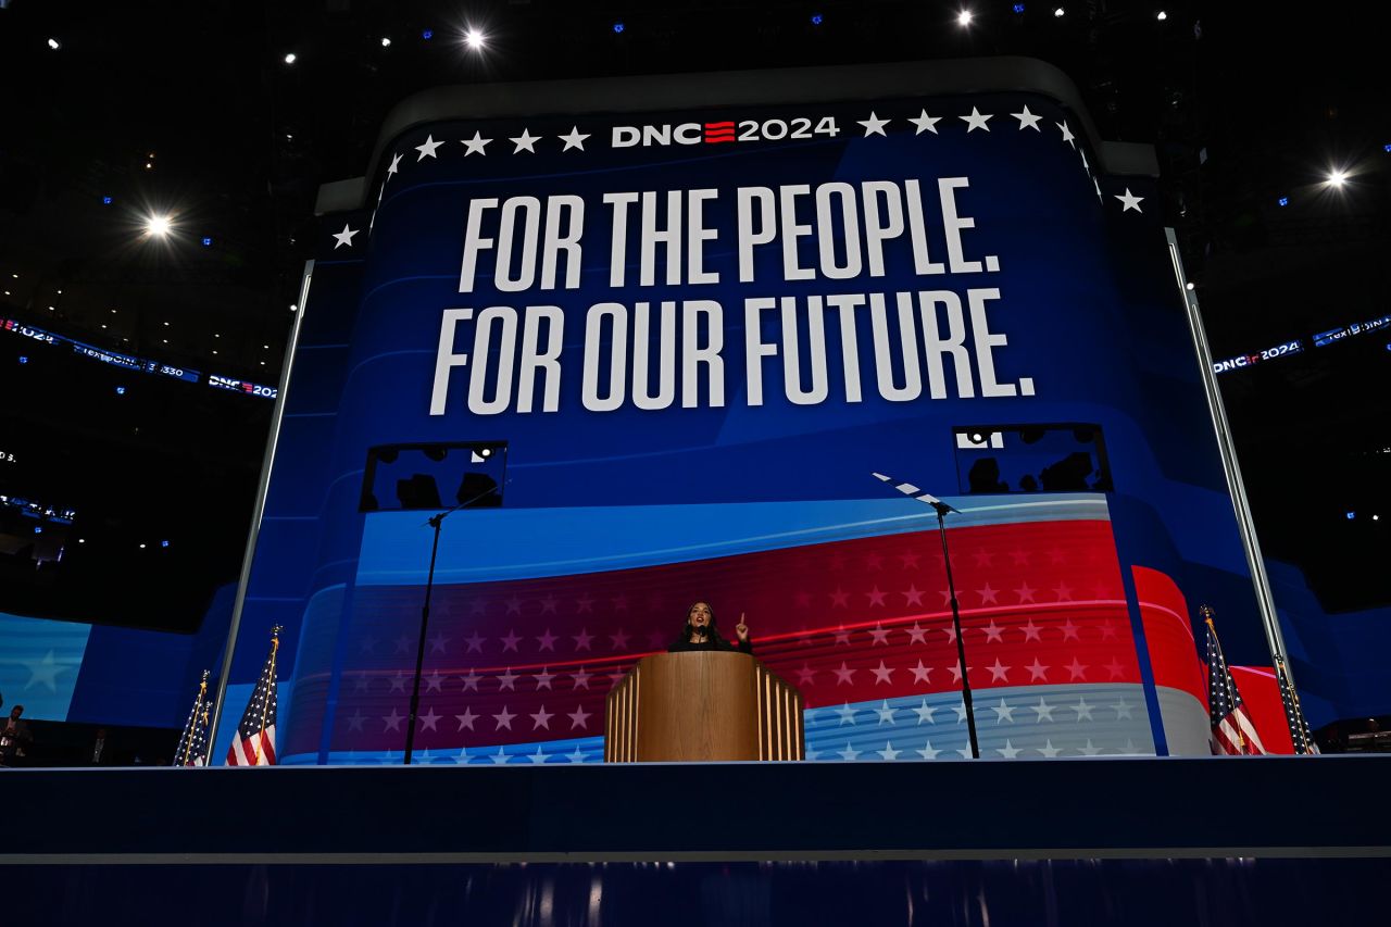
[[[1155,180],[1052,93],[881,84],[384,139],[324,221],[242,614],[235,679],[288,629],[282,763],[401,761],[456,502],[417,761],[600,761],[694,600],[801,690],[808,760],[960,757],[897,483],[963,512],[983,756],[1207,753],[1191,611],[1269,657]]]

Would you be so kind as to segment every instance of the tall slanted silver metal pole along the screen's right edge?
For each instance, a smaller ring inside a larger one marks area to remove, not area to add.
[[[1231,496],[1231,505],[1237,512],[1237,530],[1241,533],[1241,544],[1246,550],[1246,566],[1251,569],[1251,583],[1256,589],[1256,605],[1260,611],[1260,624],[1266,629],[1266,644],[1270,647],[1270,664],[1285,657],[1285,642],[1280,633],[1280,615],[1276,612],[1276,597],[1270,592],[1270,578],[1266,575],[1266,560],[1260,554],[1260,540],[1256,537],[1256,522],[1251,516],[1251,504],[1246,501],[1246,486],[1241,479],[1241,465],[1237,462],[1237,445],[1231,440],[1231,426],[1227,423],[1227,409],[1221,401],[1221,388],[1217,386],[1217,374],[1213,373],[1213,355],[1207,347],[1207,333],[1203,328],[1203,316],[1198,308],[1198,294],[1188,288],[1188,277],[1184,273],[1184,259],[1178,253],[1178,238],[1173,228],[1164,230],[1168,239],[1168,256],[1174,262],[1174,277],[1178,280],[1178,292],[1184,298],[1188,309],[1188,326],[1193,334],[1193,349],[1202,365],[1203,393],[1207,394],[1207,411],[1212,413],[1213,429],[1217,431],[1217,451],[1221,454],[1223,470],[1227,473],[1227,490]],[[1288,671],[1289,661],[1285,660]],[[1294,675],[1289,675],[1289,686],[1294,688]]]

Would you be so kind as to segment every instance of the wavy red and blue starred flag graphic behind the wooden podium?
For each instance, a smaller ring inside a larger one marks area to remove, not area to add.
[[[982,756],[1153,754],[1104,504],[1071,518],[1061,515],[1075,502],[1056,504],[1056,518],[1046,508],[1054,502],[1035,498],[1021,521],[996,512],[1004,521],[949,528]],[[490,546],[512,543],[490,536]],[[287,735],[287,761],[314,761],[325,722],[330,761],[399,761],[421,594],[416,585],[357,586],[337,708],[331,720],[312,717],[330,679],[296,679],[305,715]],[[665,651],[697,600],[712,601],[725,626],[747,611],[755,656],[805,699],[808,757],[950,759],[967,747],[935,526],[601,572],[437,582],[434,596],[416,721],[423,763],[598,761],[609,688],[638,658]]]

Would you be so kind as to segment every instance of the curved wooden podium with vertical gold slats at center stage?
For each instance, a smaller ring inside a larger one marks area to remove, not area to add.
[[[801,708],[746,653],[652,654],[609,690],[604,761],[800,760]]]

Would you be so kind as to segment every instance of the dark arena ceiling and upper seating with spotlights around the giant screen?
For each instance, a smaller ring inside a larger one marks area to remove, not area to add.
[[[1213,354],[1305,340],[1220,377],[1266,554],[1303,568],[1328,611],[1391,604],[1391,333],[1309,340],[1391,312],[1391,109],[1369,14],[1015,6],[0,0],[0,316],[274,384],[317,188],[366,170],[412,92],[1032,56],[1077,82],[1103,138],[1157,148]],[[168,238],[143,232],[153,213]],[[3,331],[0,390],[15,458],[0,494],[78,511],[61,564],[0,554],[0,611],[193,631],[236,578],[273,404]],[[32,526],[0,511],[0,536]]]

